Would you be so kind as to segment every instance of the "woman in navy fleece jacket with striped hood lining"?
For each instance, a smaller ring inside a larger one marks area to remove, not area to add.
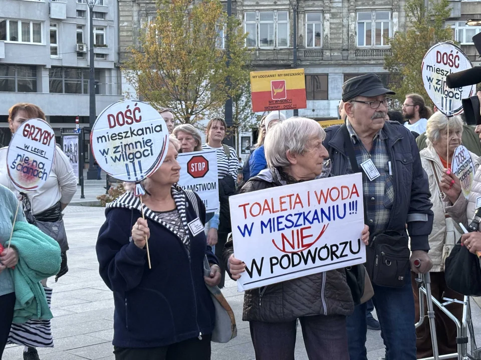
[[[114,293],[114,354],[117,360],[208,360],[215,311],[205,286],[220,269],[203,223],[205,207],[176,184],[180,166],[171,140],[167,156],[146,181],[140,200],[126,192],[110,203],[97,240],[100,275]],[[149,238],[149,269],[145,235]],[[211,264],[203,276],[203,258]]]

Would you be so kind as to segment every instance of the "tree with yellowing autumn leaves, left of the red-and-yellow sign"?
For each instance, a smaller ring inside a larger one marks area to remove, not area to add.
[[[221,32],[229,33],[224,41]],[[249,81],[245,34],[219,0],[157,0],[156,19],[143,27],[139,43],[124,65],[127,80],[153,106],[171,107],[181,123],[216,113]]]

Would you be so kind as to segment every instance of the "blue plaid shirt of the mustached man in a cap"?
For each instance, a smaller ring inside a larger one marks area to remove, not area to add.
[[[371,159],[381,174],[381,176],[376,177],[372,181],[369,181],[369,178],[364,174],[362,176],[364,204],[368,217],[366,219],[368,221],[367,224],[372,234],[380,233],[387,229],[394,203],[394,179],[389,174],[388,162],[390,158],[387,149],[387,136],[383,129],[380,129],[374,136],[371,151],[368,152],[349,121],[347,121],[347,129],[354,145],[354,153],[356,154],[359,168],[361,168],[361,163]],[[348,170],[352,171],[349,161]]]

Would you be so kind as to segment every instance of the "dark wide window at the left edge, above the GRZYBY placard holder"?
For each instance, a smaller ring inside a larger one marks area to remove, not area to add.
[[[0,64],[0,91],[37,92],[37,66]]]

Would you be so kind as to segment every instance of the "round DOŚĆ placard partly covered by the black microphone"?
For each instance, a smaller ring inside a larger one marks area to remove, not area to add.
[[[446,116],[462,112],[463,98],[472,96],[475,85],[449,88],[446,76],[472,67],[459,47],[450,42],[433,45],[422,59],[422,81],[431,101]]]

